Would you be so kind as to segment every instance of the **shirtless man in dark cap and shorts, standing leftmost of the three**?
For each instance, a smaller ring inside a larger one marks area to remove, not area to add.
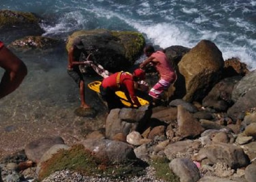
[[[76,38],[74,39],[72,46],[68,50],[68,74],[78,84],[81,101],[80,107],[90,108],[90,106],[85,102],[84,76],[79,68],[79,65],[88,64],[86,61],[79,61],[82,54],[84,54],[85,57],[88,56],[86,50],[84,49],[84,44],[82,43],[82,40],[80,38]]]

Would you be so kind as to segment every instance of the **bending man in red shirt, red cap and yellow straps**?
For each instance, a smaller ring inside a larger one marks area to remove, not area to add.
[[[123,91],[130,103],[140,107],[141,104],[135,95],[134,82],[144,78],[145,72],[140,68],[134,70],[133,74],[116,72],[104,78],[100,86],[100,93],[108,104],[108,110],[123,107],[120,98],[115,94],[116,91]]]

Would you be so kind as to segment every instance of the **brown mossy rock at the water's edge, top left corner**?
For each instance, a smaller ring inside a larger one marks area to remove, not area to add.
[[[30,12],[0,10],[0,27],[19,25],[23,23],[37,24],[40,18]]]

